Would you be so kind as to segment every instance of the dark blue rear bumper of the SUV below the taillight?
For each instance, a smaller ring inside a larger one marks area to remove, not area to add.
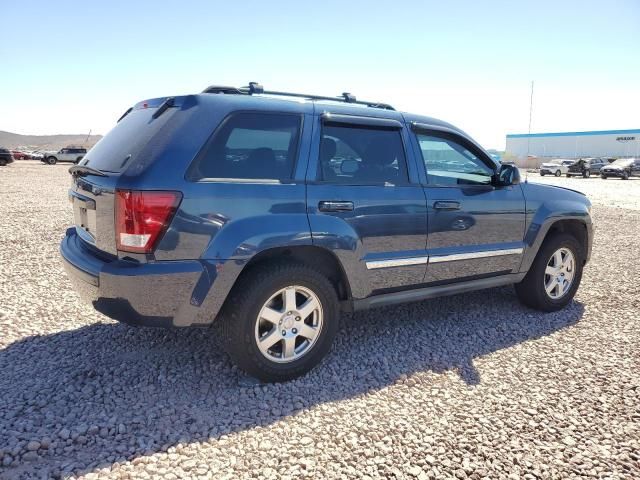
[[[60,244],[65,270],[80,297],[104,315],[138,326],[189,326],[209,293],[197,260],[134,263],[98,256],[69,228]]]

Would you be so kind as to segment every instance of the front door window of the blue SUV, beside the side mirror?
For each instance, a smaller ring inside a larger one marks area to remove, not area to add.
[[[429,184],[491,184],[494,170],[464,145],[446,137],[423,134],[417,137]]]

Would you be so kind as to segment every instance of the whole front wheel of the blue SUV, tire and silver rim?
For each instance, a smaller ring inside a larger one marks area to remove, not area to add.
[[[583,248],[575,237],[553,234],[540,247],[522,282],[516,284],[518,298],[545,312],[564,308],[580,286],[583,261]]]

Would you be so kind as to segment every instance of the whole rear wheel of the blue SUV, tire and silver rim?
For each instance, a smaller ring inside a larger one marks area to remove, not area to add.
[[[336,291],[298,263],[259,266],[233,288],[220,319],[225,348],[265,382],[304,375],[327,355],[338,330]]]

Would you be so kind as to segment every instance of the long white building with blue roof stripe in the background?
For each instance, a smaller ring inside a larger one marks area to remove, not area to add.
[[[507,135],[506,152],[522,159],[527,149],[547,158],[640,157],[640,130],[629,132]]]

